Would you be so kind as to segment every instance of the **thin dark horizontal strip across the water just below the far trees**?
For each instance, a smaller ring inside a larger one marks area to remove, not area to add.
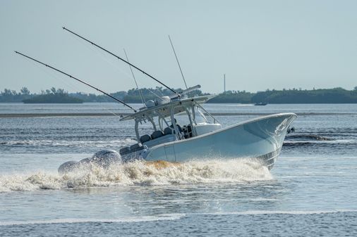
[[[214,116],[249,116],[249,115],[271,115],[272,113],[211,113]],[[106,117],[106,116],[126,116],[130,113],[4,113],[0,118],[18,118],[18,117]],[[298,116],[315,115],[357,115],[357,113],[296,113]]]

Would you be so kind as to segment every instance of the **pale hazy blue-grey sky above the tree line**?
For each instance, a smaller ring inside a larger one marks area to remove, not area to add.
[[[171,87],[202,91],[357,86],[357,1],[0,0],[0,90],[59,87],[95,92],[18,56],[43,60],[105,91],[135,87],[125,63],[61,29],[95,41]],[[159,86],[135,72],[141,87]]]

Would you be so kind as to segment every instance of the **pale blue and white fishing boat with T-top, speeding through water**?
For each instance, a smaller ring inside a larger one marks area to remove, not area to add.
[[[181,94],[182,95],[182,94]],[[256,158],[271,169],[294,113],[267,115],[222,127],[222,124],[202,107],[214,96],[170,98],[147,101],[140,111],[123,117],[133,120],[138,143],[119,150],[124,161],[188,160]],[[140,126],[145,124],[145,129]],[[150,124],[151,133],[148,132]]]

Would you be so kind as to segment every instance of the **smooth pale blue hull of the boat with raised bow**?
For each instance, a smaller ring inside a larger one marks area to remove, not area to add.
[[[272,168],[294,113],[258,117],[208,134],[164,143],[145,150],[145,160],[212,160],[256,158]]]

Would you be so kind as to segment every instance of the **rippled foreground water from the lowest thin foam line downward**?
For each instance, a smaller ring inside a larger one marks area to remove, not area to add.
[[[356,212],[169,214],[135,219],[57,219],[13,223],[3,236],[356,236]],[[269,222],[269,226],[265,223]],[[205,226],[202,227],[202,223]],[[352,227],[352,228],[351,228]],[[354,227],[354,229],[353,229]],[[73,231],[75,229],[75,231]],[[341,231],[344,230],[344,231]]]

